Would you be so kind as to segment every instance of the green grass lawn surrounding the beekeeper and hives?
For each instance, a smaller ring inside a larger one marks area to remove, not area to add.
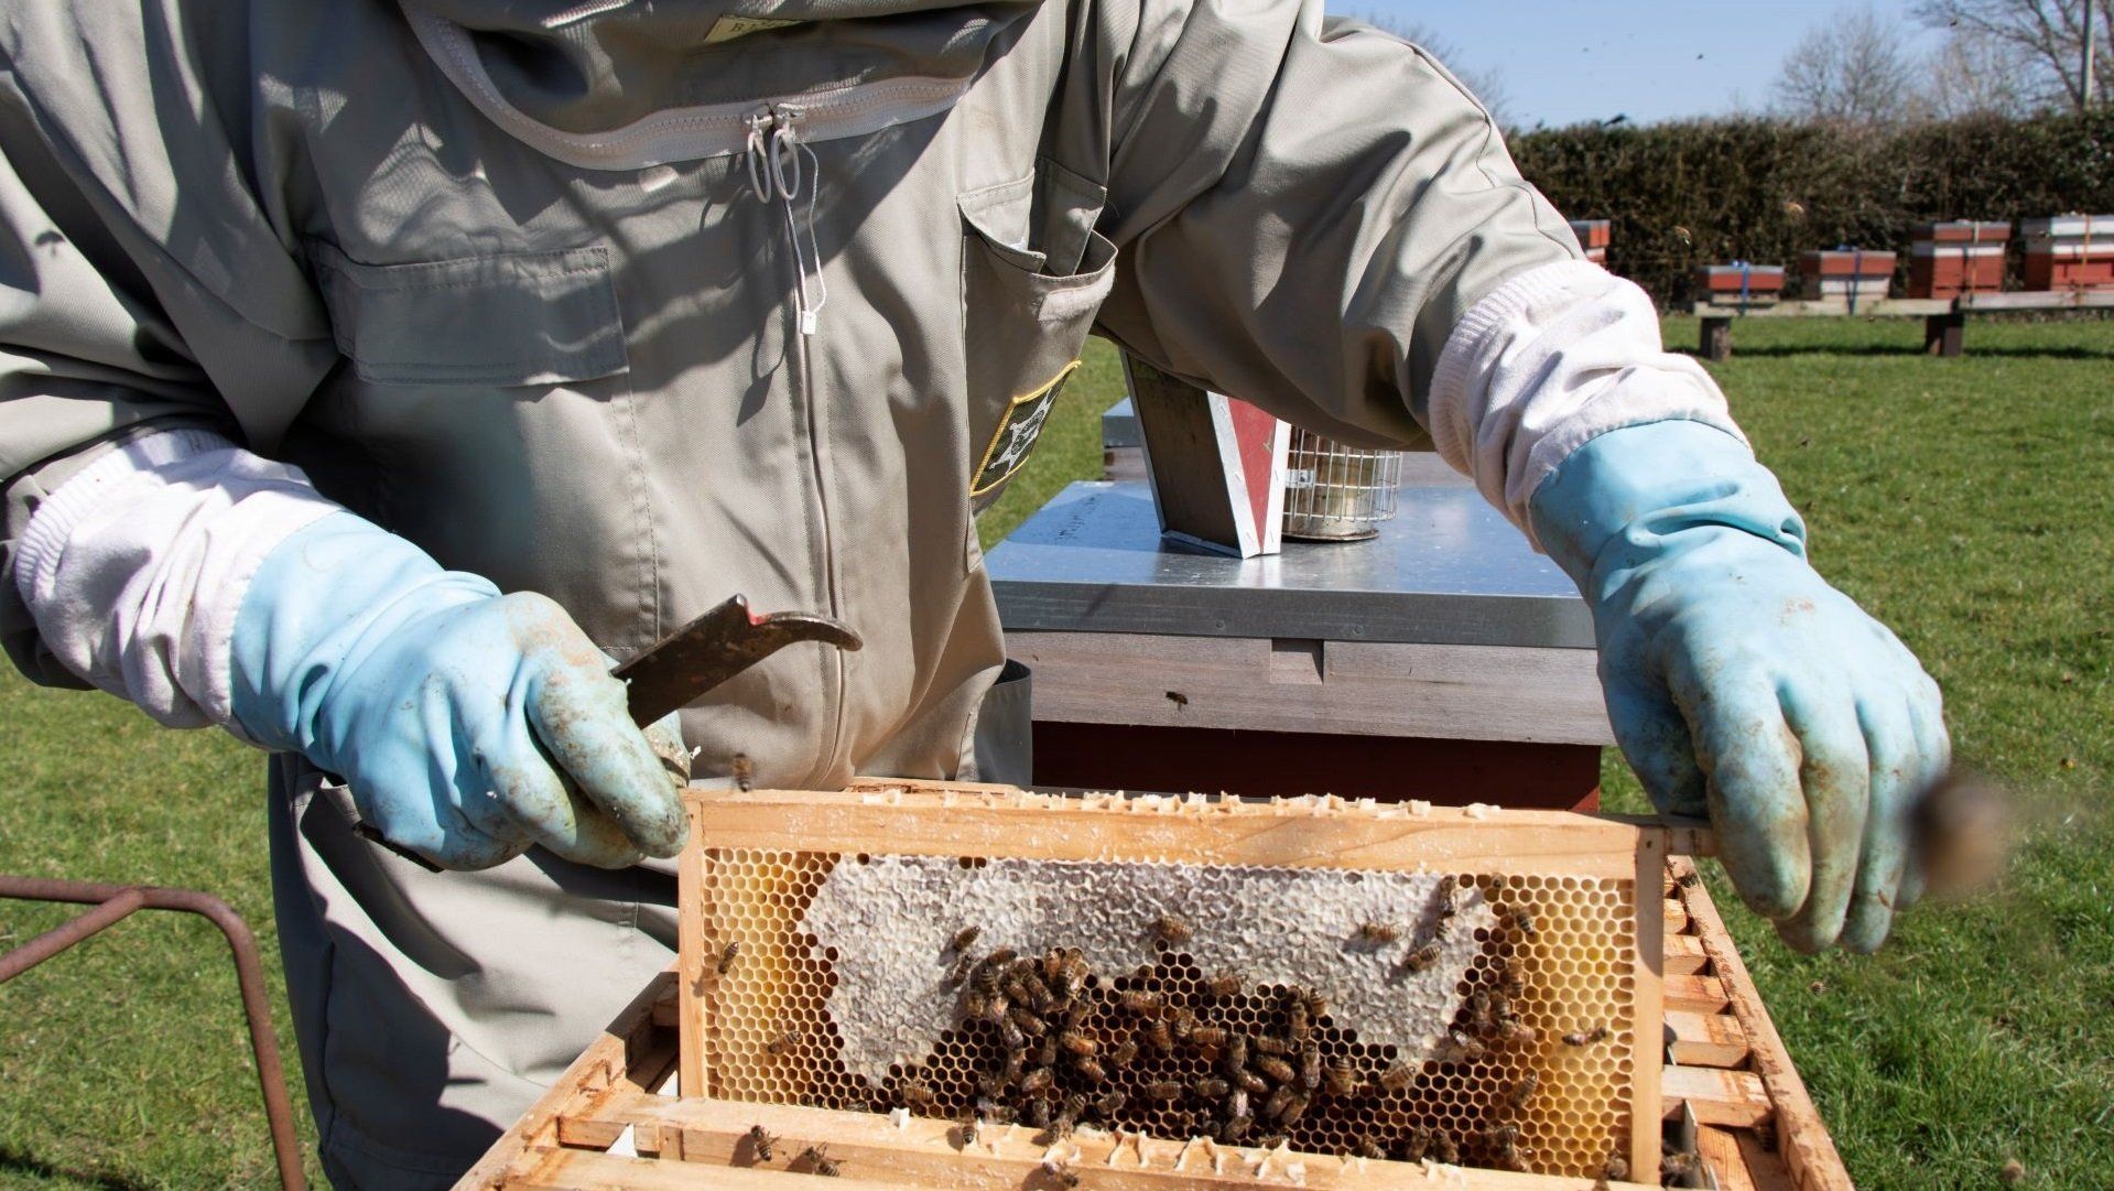
[[[2025,848],[2000,895],[1913,914],[1875,958],[1788,954],[1717,895],[1862,1187],[1994,1187],[2017,1157],[2027,1187],[2106,1191],[2114,322],[1977,322],[1964,360],[1917,355],[1920,330],[1757,322],[1714,368],[1805,510],[1820,569],[1924,656],[1960,757],[2021,789]],[[1693,343],[1693,324],[1672,322],[1668,341]],[[1097,472],[1116,387],[1097,349],[987,539]],[[1607,787],[1636,802],[1615,755]],[[268,948],[258,759],[6,673],[0,872],[207,886]],[[57,920],[0,903],[0,946]],[[0,986],[0,1187],[268,1183],[233,975],[207,924],[142,916]]]

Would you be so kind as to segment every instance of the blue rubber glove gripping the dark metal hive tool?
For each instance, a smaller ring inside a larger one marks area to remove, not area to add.
[[[609,660],[539,594],[338,512],[264,556],[233,639],[243,732],[342,776],[368,825],[440,867],[528,844],[624,867],[683,844],[674,715],[632,726]]]

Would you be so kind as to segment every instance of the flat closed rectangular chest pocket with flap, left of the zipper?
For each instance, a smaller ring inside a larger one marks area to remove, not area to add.
[[[562,385],[630,370],[609,252],[361,264],[309,256],[332,332],[372,385]]]

